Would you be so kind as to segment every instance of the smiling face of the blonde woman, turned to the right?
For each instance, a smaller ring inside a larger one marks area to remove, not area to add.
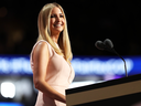
[[[61,9],[57,7],[53,8],[51,13],[51,23],[50,23],[51,34],[61,33],[64,30],[64,25],[65,25],[65,19]]]

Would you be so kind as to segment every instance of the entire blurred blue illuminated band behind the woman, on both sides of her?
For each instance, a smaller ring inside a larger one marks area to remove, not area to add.
[[[124,56],[129,75],[141,74],[141,56]],[[74,56],[77,75],[124,75],[124,64],[118,56]],[[0,56],[0,74],[32,75],[30,56]]]

